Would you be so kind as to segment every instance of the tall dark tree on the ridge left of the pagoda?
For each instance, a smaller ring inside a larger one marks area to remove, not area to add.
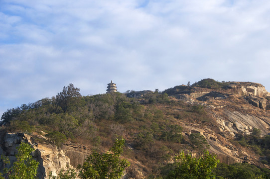
[[[63,88],[62,92],[56,95],[56,103],[63,111],[66,111],[68,107],[72,108],[73,105],[78,104],[80,97],[82,97],[80,89],[75,88],[73,84],[69,84],[69,86]]]

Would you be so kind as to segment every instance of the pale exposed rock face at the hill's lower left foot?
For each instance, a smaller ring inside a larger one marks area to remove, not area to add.
[[[63,148],[58,149],[50,143],[36,143],[33,138],[27,134],[6,133],[1,134],[0,155],[4,154],[10,159],[11,165],[16,160],[16,147],[21,142],[26,142],[32,145],[35,149],[32,156],[39,162],[38,178],[48,179],[49,172],[56,176],[61,169],[76,168],[78,164],[83,164],[84,159],[89,155],[85,147],[77,144],[65,144]],[[43,137],[44,138],[44,137]],[[0,169],[2,169],[0,163]],[[8,166],[7,166],[8,167]]]

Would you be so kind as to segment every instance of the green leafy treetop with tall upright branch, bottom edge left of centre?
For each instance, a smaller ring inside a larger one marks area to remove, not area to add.
[[[126,159],[120,160],[125,140],[116,140],[114,146],[106,153],[93,151],[83,165],[79,165],[81,179],[120,179],[125,168],[130,166]]]

